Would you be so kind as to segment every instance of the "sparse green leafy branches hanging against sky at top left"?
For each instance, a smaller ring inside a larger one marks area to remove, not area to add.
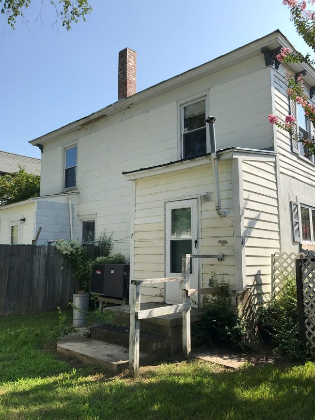
[[[8,24],[15,29],[16,18],[24,17],[25,10],[31,5],[32,0],[0,0],[1,14],[6,15]],[[35,3],[37,0],[33,0]],[[39,8],[44,5],[44,1],[37,2]],[[36,3],[36,4],[37,4]],[[56,13],[56,21],[62,20],[62,25],[69,31],[72,23],[78,23],[79,19],[85,21],[85,16],[92,12],[92,7],[88,0],[47,0]],[[39,12],[40,16],[41,12]]]

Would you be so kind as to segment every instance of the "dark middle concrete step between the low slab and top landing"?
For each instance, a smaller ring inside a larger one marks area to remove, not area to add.
[[[91,327],[90,331],[91,337],[94,340],[101,340],[129,347],[129,326],[100,324]],[[164,354],[167,354],[169,348],[169,337],[163,337],[158,334],[140,330],[140,351],[149,354],[163,351]]]

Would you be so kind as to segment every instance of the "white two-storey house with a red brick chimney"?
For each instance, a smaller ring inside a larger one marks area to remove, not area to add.
[[[314,132],[289,104],[281,47],[293,49],[274,31],[139,93],[136,54],[121,51],[119,100],[31,141],[42,151],[38,244],[113,231],[113,251],[130,258],[132,279],[180,272],[183,252],[223,254],[193,261],[192,287],[217,278],[236,292],[269,294],[271,254],[315,244],[314,159],[268,123],[268,114],[284,120],[291,112],[299,130]],[[289,68],[304,72],[312,98],[315,69]],[[221,210],[208,115],[216,117]],[[178,299],[172,286],[142,290],[142,301]]]

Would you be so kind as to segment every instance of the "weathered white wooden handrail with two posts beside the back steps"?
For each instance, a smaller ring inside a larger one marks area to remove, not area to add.
[[[224,260],[224,255],[193,255],[182,256],[182,277],[169,277],[164,279],[131,280],[130,284],[130,335],[129,335],[129,375],[137,376],[139,373],[139,349],[140,349],[140,320],[154,318],[171,313],[182,313],[182,341],[183,353],[188,357],[191,351],[190,344],[190,296],[220,293],[222,287],[207,287],[204,289],[189,289],[190,258],[218,258]],[[140,310],[141,285],[178,281],[182,291],[182,303],[160,308]]]

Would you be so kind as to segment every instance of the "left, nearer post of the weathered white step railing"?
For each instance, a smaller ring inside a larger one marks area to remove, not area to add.
[[[130,333],[129,333],[129,376],[139,374],[140,321],[136,312],[140,311],[141,284],[130,284]]]

